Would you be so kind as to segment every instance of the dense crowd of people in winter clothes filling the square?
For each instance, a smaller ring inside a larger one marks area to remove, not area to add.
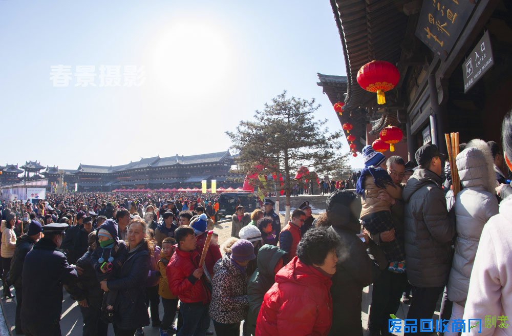
[[[151,323],[164,336],[201,336],[212,322],[223,336],[361,336],[362,290],[373,284],[371,336],[506,334],[506,321],[482,321],[512,313],[512,187],[502,170],[512,169],[512,111],[502,136],[503,151],[460,144],[456,195],[436,145],[418,149],[417,166],[366,146],[365,169],[348,180],[355,192],[331,181],[324,214],[313,218],[305,201],[281,225],[271,199],[250,214],[239,205],[222,246],[210,232],[216,195],[3,202],[3,296],[16,296],[15,333],[60,335],[64,286],[84,335],[106,335],[110,323],[118,336],[141,335]],[[440,298],[439,323],[423,330]],[[403,330],[390,320],[400,301],[410,303]],[[471,320],[480,327],[460,327]]]

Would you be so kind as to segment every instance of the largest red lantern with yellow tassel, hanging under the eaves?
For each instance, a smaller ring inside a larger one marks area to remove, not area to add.
[[[385,60],[372,60],[357,72],[357,83],[369,92],[377,93],[377,104],[385,104],[384,93],[393,89],[400,81],[398,69]]]

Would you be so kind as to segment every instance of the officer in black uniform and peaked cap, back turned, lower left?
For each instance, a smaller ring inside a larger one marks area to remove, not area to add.
[[[67,224],[42,227],[46,235],[27,254],[22,271],[22,326],[28,336],[60,336],[62,285],[76,283],[77,272],[52,240],[65,235]]]

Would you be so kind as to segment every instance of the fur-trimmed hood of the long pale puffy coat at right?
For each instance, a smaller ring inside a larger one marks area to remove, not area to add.
[[[491,194],[496,193],[494,159],[485,141],[473,139],[468,142],[466,149],[457,155],[456,162],[463,187],[480,186]]]

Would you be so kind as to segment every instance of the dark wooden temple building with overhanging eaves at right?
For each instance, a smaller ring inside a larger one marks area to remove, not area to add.
[[[387,125],[399,127],[403,139],[384,154],[406,161],[425,143],[446,153],[449,132],[459,132],[460,142],[501,143],[501,122],[512,106],[512,1],[330,3],[347,76],[318,74],[317,85],[332,104],[345,103],[338,118],[353,125],[357,151]],[[385,104],[357,82],[359,69],[372,60],[390,62],[400,73]]]

